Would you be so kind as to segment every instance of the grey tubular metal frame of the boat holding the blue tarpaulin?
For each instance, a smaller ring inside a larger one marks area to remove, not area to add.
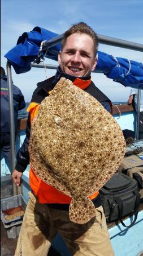
[[[50,47],[55,46],[56,44],[59,44],[62,41],[63,34],[55,36],[55,38],[52,38],[48,41],[45,41],[42,47],[43,50],[47,50]],[[143,52],[143,44],[133,43],[122,39],[117,38],[111,38],[109,36],[103,36],[99,35],[99,43],[101,44],[107,44],[109,46],[116,46],[121,48],[127,48],[132,49],[135,51],[141,51]],[[44,68],[44,65],[42,64],[32,64],[32,67],[35,68]],[[46,65],[47,68],[50,69],[56,69],[56,65]],[[97,72],[97,71],[94,71]],[[11,158],[12,158],[12,170],[15,169],[15,130],[14,130],[14,104],[13,104],[13,93],[12,93],[12,76],[11,76],[11,63],[7,60],[7,81],[8,81],[8,90],[9,90],[9,105],[10,105],[10,133],[11,133]],[[135,139],[138,140],[138,127],[139,127],[139,119],[140,119],[140,97],[141,97],[141,90],[138,89],[138,105],[137,105],[137,121],[136,121],[136,137]],[[18,193],[18,189],[16,188],[16,185],[13,185],[13,191],[14,195]]]

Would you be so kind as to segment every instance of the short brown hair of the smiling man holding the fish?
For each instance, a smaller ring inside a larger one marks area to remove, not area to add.
[[[68,36],[72,35],[73,33],[89,35],[90,38],[93,39],[95,55],[97,54],[97,49],[99,44],[98,36],[96,32],[84,22],[73,24],[71,28],[69,28],[66,32],[64,32],[62,43],[61,43],[62,44],[61,49],[63,49],[63,47],[65,46]]]

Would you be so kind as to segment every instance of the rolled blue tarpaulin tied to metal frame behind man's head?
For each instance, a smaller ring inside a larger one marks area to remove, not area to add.
[[[45,28],[34,27],[31,32],[24,32],[19,37],[16,46],[8,51],[5,57],[10,61],[17,74],[28,72],[31,70],[31,63],[39,53],[41,42],[48,41],[57,35]],[[57,61],[59,50],[60,44],[57,44],[49,48],[46,55],[46,51],[43,51],[42,55]],[[124,86],[143,89],[142,63],[98,51],[96,70]]]

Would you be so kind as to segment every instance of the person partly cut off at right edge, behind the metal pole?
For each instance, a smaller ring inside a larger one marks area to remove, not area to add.
[[[138,97],[138,89],[132,88],[130,96],[128,98],[128,105],[133,104],[137,112],[137,97]],[[143,139],[143,90],[141,90],[141,98],[140,98],[140,123],[139,123],[139,139]]]

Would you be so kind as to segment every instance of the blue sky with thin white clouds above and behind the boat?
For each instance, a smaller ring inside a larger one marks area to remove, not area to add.
[[[142,0],[1,0],[1,65],[6,69],[3,57],[23,32],[39,26],[62,34],[73,23],[86,22],[97,34],[143,43],[143,1]],[[99,51],[116,57],[125,57],[142,62],[141,52],[112,46],[99,45]],[[57,64],[46,59],[47,64]],[[53,76],[48,70],[47,76]],[[29,102],[39,81],[45,80],[44,69],[16,75],[12,68],[12,79]],[[127,101],[130,88],[113,82],[103,74],[92,73],[96,86],[112,101]]]

